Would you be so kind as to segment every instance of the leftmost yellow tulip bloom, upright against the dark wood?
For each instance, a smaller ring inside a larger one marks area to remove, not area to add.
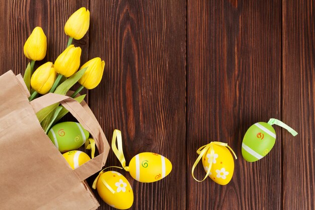
[[[42,60],[46,51],[46,35],[41,27],[36,27],[24,44],[24,55],[31,60]]]

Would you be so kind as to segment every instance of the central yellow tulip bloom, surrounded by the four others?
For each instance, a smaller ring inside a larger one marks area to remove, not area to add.
[[[54,64],[56,72],[64,77],[70,77],[80,66],[80,57],[81,48],[71,44],[57,57]]]

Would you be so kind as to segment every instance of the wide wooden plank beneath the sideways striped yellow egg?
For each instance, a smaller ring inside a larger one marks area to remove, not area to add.
[[[131,209],[185,209],[186,2],[91,1],[90,9],[90,58],[106,62],[101,84],[89,92],[90,107],[110,142],[115,128],[122,131],[127,164],[141,152],[173,163],[155,183],[113,169],[133,187]],[[110,151],[106,166],[113,165],[120,164]],[[100,209],[112,208],[101,202]]]

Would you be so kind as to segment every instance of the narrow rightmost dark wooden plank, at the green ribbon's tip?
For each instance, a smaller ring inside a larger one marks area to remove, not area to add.
[[[314,1],[283,1],[283,209],[315,209]]]

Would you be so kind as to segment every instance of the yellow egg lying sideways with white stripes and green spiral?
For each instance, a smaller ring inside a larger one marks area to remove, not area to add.
[[[140,153],[131,159],[129,170],[132,178],[139,182],[155,182],[169,175],[172,163],[156,153]]]

